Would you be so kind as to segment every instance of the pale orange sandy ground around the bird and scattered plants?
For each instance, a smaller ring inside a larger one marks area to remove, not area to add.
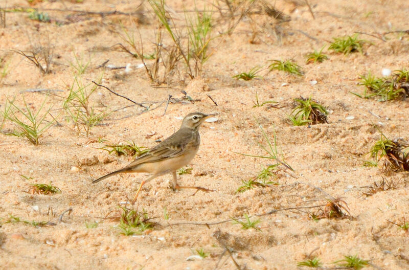
[[[381,76],[383,68],[409,68],[409,36],[394,32],[381,39],[382,33],[409,29],[407,1],[354,4],[310,0],[315,19],[303,1],[277,1],[276,8],[290,21],[278,24],[263,12],[252,14],[243,17],[231,35],[222,37],[216,37],[217,31],[225,31],[228,21],[220,19],[215,11],[216,38],[210,43],[212,56],[203,66],[201,77],[191,80],[180,64],[178,72],[160,86],[151,84],[139,59],[112,47],[124,42],[117,34],[123,33],[122,24],[135,36],[140,29],[147,53],[153,48],[157,24],[147,3],[141,8],[137,7],[138,1],[35,2],[33,6],[23,0],[0,4],[1,8],[39,8],[52,19],[46,23],[30,19],[27,12],[6,13],[6,28],[0,28],[0,56],[3,68],[5,63],[9,68],[0,84],[0,109],[3,111],[7,97],[15,97],[15,103],[22,106],[24,95],[34,110],[47,97],[46,107],[53,106],[51,114],[58,116],[58,124],[54,123],[34,146],[22,138],[7,136],[5,133],[14,127],[9,121],[4,123],[0,133],[0,269],[296,269],[297,262],[308,256],[319,257],[325,267],[335,267],[332,262],[344,255],[358,255],[374,265],[368,267],[376,269],[409,268],[407,232],[387,221],[402,223],[404,218],[409,219],[408,174],[394,173],[387,178],[398,183],[397,189],[367,197],[362,196],[367,189],[361,188],[381,181],[383,176],[379,168],[362,166],[362,160],[369,159],[365,154],[379,139],[380,133],[373,125],[390,139],[409,141],[409,105],[407,100],[382,103],[350,93],[363,91],[358,85],[359,75],[371,71]],[[179,11],[192,2],[171,2],[169,7],[175,11],[172,14],[182,22],[184,15]],[[128,15],[43,9],[144,12],[134,23]],[[63,23],[58,26],[56,21]],[[252,43],[254,32],[257,35]],[[363,54],[329,52],[327,61],[305,64],[307,53],[328,46],[333,37],[354,32],[367,33],[360,35],[369,41]],[[30,50],[38,44],[53,48],[50,74],[41,74],[27,59],[11,51]],[[150,110],[142,113],[142,107],[130,106],[131,102],[99,87],[90,103],[98,109],[107,107],[112,113],[93,127],[88,137],[78,134],[72,122],[65,121],[67,115],[62,109],[63,98],[74,80],[74,55],[84,63],[89,61],[81,75],[84,84],[102,76],[102,84],[136,102],[147,102]],[[98,69],[108,59],[108,64],[115,66],[130,63],[131,69]],[[305,75],[267,73],[264,69],[260,73],[263,79],[246,82],[232,78],[256,65],[266,67],[272,59],[293,59]],[[317,83],[311,84],[314,80]],[[28,91],[40,88],[58,91],[50,95]],[[169,95],[180,99],[182,90],[196,101],[170,102],[164,115]],[[261,102],[278,101],[280,108],[253,107],[256,92]],[[288,115],[293,99],[300,96],[311,96],[326,106],[329,123],[292,126]],[[201,146],[191,164],[192,174],[182,175],[179,184],[216,191],[198,192],[195,196],[191,196],[191,190],[174,192],[169,188],[171,175],[158,177],[144,186],[135,206],[145,209],[157,226],[140,235],[119,234],[115,228],[118,221],[101,218],[131,198],[146,176],[122,174],[90,184],[132,160],[101,150],[106,142],[99,143],[98,139],[110,143],[134,141],[152,147],[156,140],[177,130],[181,118],[193,111],[215,113],[218,121],[201,127]],[[274,180],[278,185],[236,193],[242,181],[273,163],[234,153],[265,154],[259,147],[259,143],[266,146],[266,140],[258,123],[270,140],[276,131],[278,147],[295,171],[281,167]],[[27,192],[30,183],[50,182],[61,193]],[[258,217],[261,231],[243,230],[232,221],[208,227],[178,224],[211,223],[274,209],[325,205],[331,198],[342,198],[353,218],[313,221],[308,211],[316,209],[301,209]],[[168,219],[164,217],[165,208]],[[68,209],[72,213],[66,212],[60,218]],[[42,227],[7,223],[10,215],[50,222]],[[95,221],[102,222],[97,228],[86,228],[86,223]],[[226,248],[233,257],[225,252]],[[200,249],[209,256],[187,260]]]

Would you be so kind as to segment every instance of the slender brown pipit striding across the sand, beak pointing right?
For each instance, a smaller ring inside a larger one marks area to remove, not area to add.
[[[188,165],[196,155],[200,145],[199,126],[210,116],[214,115],[205,115],[202,113],[191,113],[187,115],[183,119],[179,130],[173,133],[169,138],[149,149],[148,152],[138,156],[138,158],[124,168],[94,180],[93,184],[121,172],[151,173],[149,178],[141,182],[137,194],[135,194],[132,199],[132,205],[137,200],[143,185],[158,176],[168,173],[173,175],[173,189],[193,188],[197,191],[213,191],[202,187],[181,187],[177,185],[176,176],[176,170]]]

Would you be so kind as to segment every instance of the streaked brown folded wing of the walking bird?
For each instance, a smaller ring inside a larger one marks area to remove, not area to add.
[[[191,132],[186,132],[185,130],[178,130],[165,141],[149,149],[148,152],[140,155],[137,159],[128,164],[125,168],[134,167],[142,163],[153,163],[167,160],[170,158],[175,158],[176,156],[179,156],[184,152],[187,142],[190,141],[190,138],[188,138],[189,136],[192,136]],[[186,143],[181,142],[180,139],[178,138],[184,138],[183,141]]]

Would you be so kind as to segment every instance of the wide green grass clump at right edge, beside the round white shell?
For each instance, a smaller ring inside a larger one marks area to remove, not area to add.
[[[379,101],[404,100],[409,97],[409,70],[396,70],[389,77],[378,78],[371,73],[361,75],[360,85],[366,87],[363,94],[352,94],[360,98],[379,97]]]

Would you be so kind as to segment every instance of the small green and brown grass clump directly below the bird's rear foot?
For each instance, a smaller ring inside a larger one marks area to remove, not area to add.
[[[148,213],[143,209],[142,212],[134,209],[119,206],[120,217],[119,224],[116,229],[120,234],[129,236],[133,234],[141,234],[148,229],[153,229],[155,223],[151,222]]]

